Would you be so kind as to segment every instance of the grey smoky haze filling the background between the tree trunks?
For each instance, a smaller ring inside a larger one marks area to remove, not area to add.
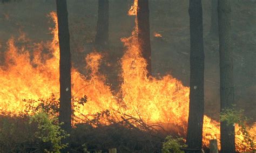
[[[134,27],[134,17],[127,16],[131,0],[109,1],[109,53],[105,53],[101,71],[107,75],[107,82],[118,90],[120,80],[119,60],[124,47],[120,38],[129,37]],[[245,110],[248,117],[256,121],[256,2],[232,1],[232,43],[234,55],[235,103]],[[152,49],[152,74],[166,73],[189,86],[190,78],[190,29],[188,1],[149,1],[150,32]],[[73,66],[86,74],[84,58],[93,49],[97,25],[98,1],[68,1],[69,29]],[[47,17],[56,11],[55,1],[23,0],[0,4],[0,50],[5,52],[6,41],[12,36],[18,38],[22,32],[30,40],[39,43],[51,39]],[[205,51],[205,114],[218,119],[219,100],[219,46],[213,39],[211,28],[211,1],[203,1],[204,51]],[[156,33],[161,37],[155,37]],[[2,46],[2,47],[1,47]],[[47,52],[47,51],[45,51]],[[1,63],[4,58],[1,56]],[[115,69],[115,71],[113,71]]]

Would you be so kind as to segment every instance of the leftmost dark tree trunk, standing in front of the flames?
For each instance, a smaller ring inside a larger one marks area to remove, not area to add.
[[[59,122],[64,122],[62,129],[71,130],[71,53],[69,40],[68,10],[66,0],[56,0],[59,36],[59,82],[60,106]]]

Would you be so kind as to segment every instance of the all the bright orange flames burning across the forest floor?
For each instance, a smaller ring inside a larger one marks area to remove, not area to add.
[[[136,15],[138,2],[134,1],[129,15]],[[59,45],[58,25],[55,12],[50,13],[55,22],[51,29],[52,40],[46,43],[25,46],[15,45],[15,38],[10,38],[5,52],[5,63],[0,68],[0,110],[17,114],[24,109],[22,99],[48,98],[51,93],[59,96]],[[136,19],[137,20],[137,19]],[[160,79],[146,77],[146,61],[142,58],[137,38],[136,27],[129,38],[122,38],[126,51],[121,59],[123,79],[120,91],[113,95],[106,85],[104,75],[98,72],[103,55],[96,51],[85,58],[86,69],[90,72],[82,75],[75,68],[71,72],[72,96],[87,96],[87,103],[80,108],[76,116],[82,117],[103,110],[110,110],[111,117],[120,120],[123,114],[142,119],[147,124],[159,123],[165,130],[177,131],[186,135],[188,119],[189,88],[166,75]],[[22,35],[20,40],[25,39]],[[43,50],[49,53],[43,53]],[[31,52],[33,53],[30,56]],[[90,119],[90,117],[89,117]],[[204,116],[204,144],[212,138],[220,138],[218,122]],[[254,135],[256,128],[251,131]],[[242,136],[237,135],[237,150],[242,150]]]

